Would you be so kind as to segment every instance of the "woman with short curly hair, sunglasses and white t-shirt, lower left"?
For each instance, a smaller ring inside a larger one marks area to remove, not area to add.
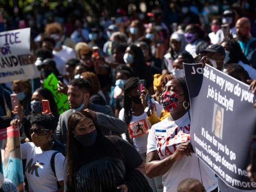
[[[33,143],[21,144],[22,158],[26,159],[24,172],[30,192],[64,190],[65,157],[62,154],[65,154],[65,147],[53,139],[55,127],[51,114],[38,114],[31,121],[30,133]]]

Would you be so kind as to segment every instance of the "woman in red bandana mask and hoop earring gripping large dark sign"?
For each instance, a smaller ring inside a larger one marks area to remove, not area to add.
[[[207,192],[218,192],[212,172],[193,152],[190,141],[190,104],[184,78],[169,81],[161,95],[161,105],[170,116],[149,131],[146,175],[162,176],[164,192],[176,192],[186,178],[200,180]]]

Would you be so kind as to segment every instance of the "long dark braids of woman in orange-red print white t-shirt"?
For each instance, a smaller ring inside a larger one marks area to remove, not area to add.
[[[124,84],[124,99],[123,99],[124,121],[128,126],[132,119],[132,110],[131,110],[132,99],[128,96],[128,93],[134,87],[138,87],[138,82],[139,82],[139,79],[137,77],[131,77]],[[125,135],[126,135],[127,141],[133,144],[128,131],[125,133]]]

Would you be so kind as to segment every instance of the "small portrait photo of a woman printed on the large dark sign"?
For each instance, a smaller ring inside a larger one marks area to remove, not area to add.
[[[216,137],[222,139],[222,127],[223,127],[223,108],[214,104],[214,116],[212,120],[212,133]]]

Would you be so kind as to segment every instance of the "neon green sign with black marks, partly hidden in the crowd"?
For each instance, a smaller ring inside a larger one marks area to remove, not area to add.
[[[50,90],[59,109],[59,114],[61,114],[69,109],[68,96],[58,90],[57,84],[57,77],[51,73],[44,81],[43,87]]]

